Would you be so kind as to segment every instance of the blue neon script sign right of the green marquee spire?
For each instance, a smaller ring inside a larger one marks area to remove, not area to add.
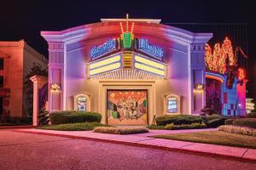
[[[137,42],[137,48],[140,51],[143,51],[146,54],[150,54],[153,55],[156,58],[161,59],[164,56],[164,51],[162,48],[151,45],[150,43],[148,43],[148,39],[138,39]]]

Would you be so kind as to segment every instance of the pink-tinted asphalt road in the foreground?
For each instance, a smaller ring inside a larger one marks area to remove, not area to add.
[[[255,170],[256,163],[0,130],[0,170]]]

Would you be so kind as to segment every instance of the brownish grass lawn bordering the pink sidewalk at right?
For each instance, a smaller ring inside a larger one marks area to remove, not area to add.
[[[256,149],[256,137],[220,131],[156,135],[154,138]]]

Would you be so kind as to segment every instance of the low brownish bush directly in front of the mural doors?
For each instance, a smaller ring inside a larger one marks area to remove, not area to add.
[[[148,133],[145,127],[96,127],[95,133],[111,133],[111,134],[135,134]]]

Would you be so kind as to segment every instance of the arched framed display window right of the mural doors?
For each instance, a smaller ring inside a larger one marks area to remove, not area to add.
[[[176,94],[166,95],[164,111],[165,114],[180,114],[180,96]]]

